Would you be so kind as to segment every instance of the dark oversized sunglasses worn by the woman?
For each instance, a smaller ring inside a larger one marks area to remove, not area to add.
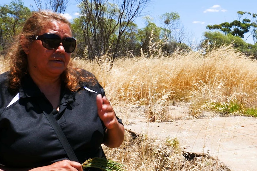
[[[67,53],[72,53],[76,48],[76,40],[72,37],[66,37],[63,40],[60,36],[53,33],[45,33],[41,36],[34,36],[33,40],[41,40],[42,45],[47,49],[56,49],[62,43]]]

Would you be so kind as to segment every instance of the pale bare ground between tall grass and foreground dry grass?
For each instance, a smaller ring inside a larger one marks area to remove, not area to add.
[[[233,171],[257,168],[257,118],[210,116],[188,119],[188,107],[171,106],[171,122],[148,122],[144,107],[135,108],[125,128],[160,140],[175,138],[186,152],[208,153]],[[180,118],[180,119],[175,119]]]

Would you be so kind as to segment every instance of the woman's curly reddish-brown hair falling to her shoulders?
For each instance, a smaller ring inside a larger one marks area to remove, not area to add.
[[[16,43],[10,50],[9,88],[11,90],[17,90],[20,87],[21,79],[27,73],[27,54],[25,54],[22,46],[32,43],[32,37],[39,34],[44,27],[53,21],[71,26],[66,18],[51,11],[32,12],[32,16],[25,22],[22,32],[16,37]],[[71,91],[78,90],[80,82],[92,82],[94,80],[91,76],[89,77],[82,76],[80,69],[75,68],[72,61],[69,62],[66,70],[61,74],[62,81]]]

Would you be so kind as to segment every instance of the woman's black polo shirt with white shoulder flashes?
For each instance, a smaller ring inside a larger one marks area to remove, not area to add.
[[[8,72],[0,75],[0,164],[40,167],[67,159],[39,100],[47,106],[44,110],[53,111],[80,163],[104,156],[100,145],[105,126],[96,106],[96,96],[101,93],[98,82],[84,83],[77,92],[62,87],[60,109],[56,111],[28,74],[22,79],[19,92],[8,90],[7,77]]]

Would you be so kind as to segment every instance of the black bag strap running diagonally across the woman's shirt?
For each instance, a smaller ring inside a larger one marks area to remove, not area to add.
[[[66,152],[69,160],[71,161],[78,161],[78,158],[76,157],[74,151],[72,150],[66,136],[64,135],[64,132],[62,131],[60,125],[57,123],[57,120],[55,119],[54,115],[52,114],[52,112],[47,113],[44,111],[44,109],[46,109],[46,103],[44,103],[44,101],[40,101],[39,102],[39,106],[41,107],[44,115],[47,117],[47,120],[49,121],[49,123],[51,124],[52,128],[55,131],[55,134],[57,135],[58,139],[61,142],[61,145],[64,148],[64,151]]]

